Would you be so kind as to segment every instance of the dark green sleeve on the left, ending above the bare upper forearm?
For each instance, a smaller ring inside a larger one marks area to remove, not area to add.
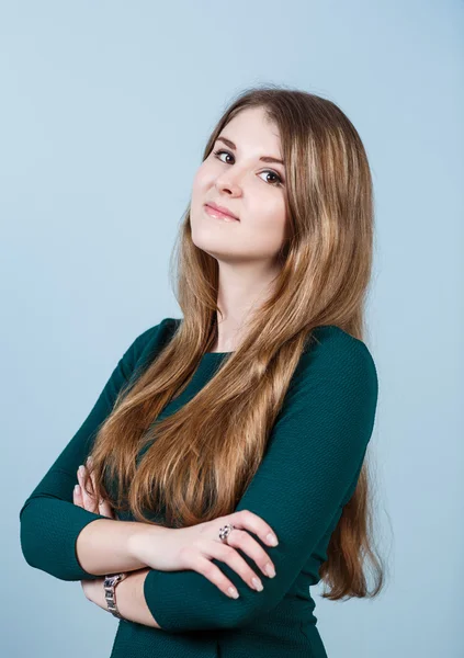
[[[72,502],[77,469],[84,464],[98,430],[134,373],[145,347],[150,343],[156,349],[168,320],[144,331],[125,351],[90,413],[22,506],[20,541],[31,567],[61,580],[100,578],[82,569],[77,559],[76,542],[81,530],[95,519],[105,519]]]

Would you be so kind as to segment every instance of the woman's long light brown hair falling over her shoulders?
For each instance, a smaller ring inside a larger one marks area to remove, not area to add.
[[[374,209],[358,132],[327,99],[282,87],[251,88],[226,109],[203,159],[227,123],[248,107],[263,109],[279,127],[285,161],[287,235],[276,256],[273,292],[247,319],[245,338],[212,379],[174,413],[157,420],[217,337],[218,264],[192,241],[189,204],[171,254],[183,319],[135,383],[120,392],[91,451],[97,495],[146,523],[154,523],[151,514],[161,509],[171,527],[234,512],[263,457],[312,330],[336,325],[364,338]],[[114,496],[106,477],[118,483]],[[364,460],[319,570],[330,588],[325,598],[372,598],[382,589],[371,502]],[[371,591],[365,559],[374,572]]]

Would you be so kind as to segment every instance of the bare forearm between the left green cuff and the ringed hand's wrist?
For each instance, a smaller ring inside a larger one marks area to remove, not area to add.
[[[94,576],[143,569],[148,565],[137,557],[134,540],[148,533],[157,542],[167,530],[138,521],[95,519],[79,533],[76,555],[82,569]]]

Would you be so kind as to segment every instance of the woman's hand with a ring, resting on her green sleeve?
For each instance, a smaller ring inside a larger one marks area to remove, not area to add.
[[[231,523],[235,527],[227,536],[227,543],[224,543],[219,538],[219,527],[227,523]],[[160,530],[162,530],[162,534],[160,534]],[[273,578],[275,575],[275,570],[272,571],[273,563],[269,555],[247,531],[253,532],[269,546],[276,545],[268,538],[268,534],[274,536],[274,533],[265,521],[249,510],[240,510],[227,514],[227,517],[219,517],[189,527],[160,529],[140,523],[139,531],[136,531],[133,538],[133,553],[139,561],[152,569],[197,571],[225,594],[237,598],[238,592],[234,583],[211,561],[213,557],[226,563],[249,587],[258,591],[261,591],[262,583],[261,588],[253,585],[252,579],[258,576],[236,548],[240,548],[251,557],[262,574],[269,578]],[[269,572],[267,571],[268,565],[271,567]],[[259,582],[261,580],[258,578]]]

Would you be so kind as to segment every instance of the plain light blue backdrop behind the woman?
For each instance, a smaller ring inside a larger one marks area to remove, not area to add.
[[[117,622],[32,569],[19,510],[116,361],[179,316],[169,256],[244,88],[335,101],[376,196],[367,344],[387,587],[321,600],[330,658],[464,655],[462,1],[1,2],[0,654],[103,658]]]

